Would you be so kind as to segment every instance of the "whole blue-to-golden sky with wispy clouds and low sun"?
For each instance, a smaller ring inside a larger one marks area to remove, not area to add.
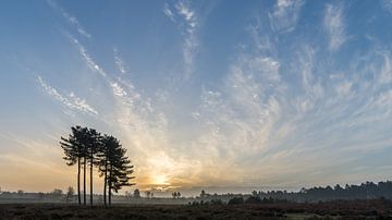
[[[127,191],[392,179],[391,0],[5,0],[0,27],[2,190],[75,186],[73,125],[121,140]]]

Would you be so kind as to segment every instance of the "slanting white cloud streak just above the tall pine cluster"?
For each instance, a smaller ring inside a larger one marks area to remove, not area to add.
[[[90,107],[85,99],[77,97],[74,93],[70,93],[69,95],[61,94],[56,88],[47,84],[41,76],[37,77],[37,82],[47,95],[59,101],[64,107],[82,113],[98,114],[98,112]]]

